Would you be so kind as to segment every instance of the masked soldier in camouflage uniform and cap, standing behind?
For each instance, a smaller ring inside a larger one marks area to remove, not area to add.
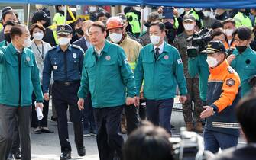
[[[193,14],[185,14],[183,17],[184,31],[173,42],[173,46],[180,52],[181,59],[183,61],[184,73],[186,77],[186,87],[188,89],[188,100],[183,104],[183,116],[186,122],[187,130],[194,130],[192,104],[194,102],[194,115],[196,117],[196,132],[203,132],[202,122],[200,120],[200,113],[202,112],[202,101],[199,96],[199,78],[197,75],[190,76],[188,66],[187,49],[192,45],[191,41],[188,42],[187,38],[193,36],[196,33],[194,30],[196,26],[196,20]]]

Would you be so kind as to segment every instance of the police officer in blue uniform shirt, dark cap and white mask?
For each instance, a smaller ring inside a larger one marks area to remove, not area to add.
[[[43,92],[49,100],[49,83],[53,72],[53,103],[58,115],[58,133],[61,152],[60,160],[71,158],[71,146],[68,136],[66,110],[70,110],[70,120],[73,122],[76,148],[79,156],[86,154],[83,146],[82,113],[77,107],[77,91],[83,66],[83,50],[79,46],[70,45],[72,28],[69,25],[57,26],[59,45],[47,52],[44,60]]]

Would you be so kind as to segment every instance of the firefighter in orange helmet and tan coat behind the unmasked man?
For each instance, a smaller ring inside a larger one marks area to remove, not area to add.
[[[135,40],[131,40],[125,32],[125,26],[121,18],[112,17],[107,21],[107,30],[112,43],[116,43],[125,50],[125,55],[128,59],[132,71],[136,66],[138,53],[142,46]],[[133,105],[125,107],[125,118],[127,122],[128,135],[138,127],[137,108]]]

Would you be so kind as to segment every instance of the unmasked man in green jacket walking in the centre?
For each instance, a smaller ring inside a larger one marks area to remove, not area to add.
[[[105,25],[94,22],[89,27],[93,47],[86,50],[83,62],[78,106],[83,109],[84,98],[92,94],[92,107],[98,126],[97,145],[101,160],[113,159],[115,152],[122,159],[123,138],[121,114],[126,105],[134,103],[136,95],[134,75],[124,50],[105,40]],[[125,100],[126,98],[126,100]]]

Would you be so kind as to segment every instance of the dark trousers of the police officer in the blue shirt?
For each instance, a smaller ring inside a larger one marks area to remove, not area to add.
[[[67,125],[66,110],[70,110],[70,120],[73,122],[76,147],[83,147],[83,124],[82,112],[77,106],[77,91],[79,82],[65,86],[59,83],[53,83],[53,102],[58,115],[58,133],[60,139],[61,152],[71,151],[69,142],[69,133]]]

